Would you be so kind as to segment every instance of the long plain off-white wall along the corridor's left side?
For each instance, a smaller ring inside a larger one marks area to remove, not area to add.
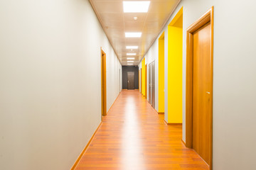
[[[0,1],[0,169],[70,169],[122,69],[87,0]],[[120,85],[122,86],[122,84]]]

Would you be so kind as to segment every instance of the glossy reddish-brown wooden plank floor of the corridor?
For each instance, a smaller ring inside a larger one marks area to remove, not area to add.
[[[208,169],[181,142],[181,125],[166,125],[138,90],[124,90],[76,169]],[[86,144],[85,144],[86,145]]]

